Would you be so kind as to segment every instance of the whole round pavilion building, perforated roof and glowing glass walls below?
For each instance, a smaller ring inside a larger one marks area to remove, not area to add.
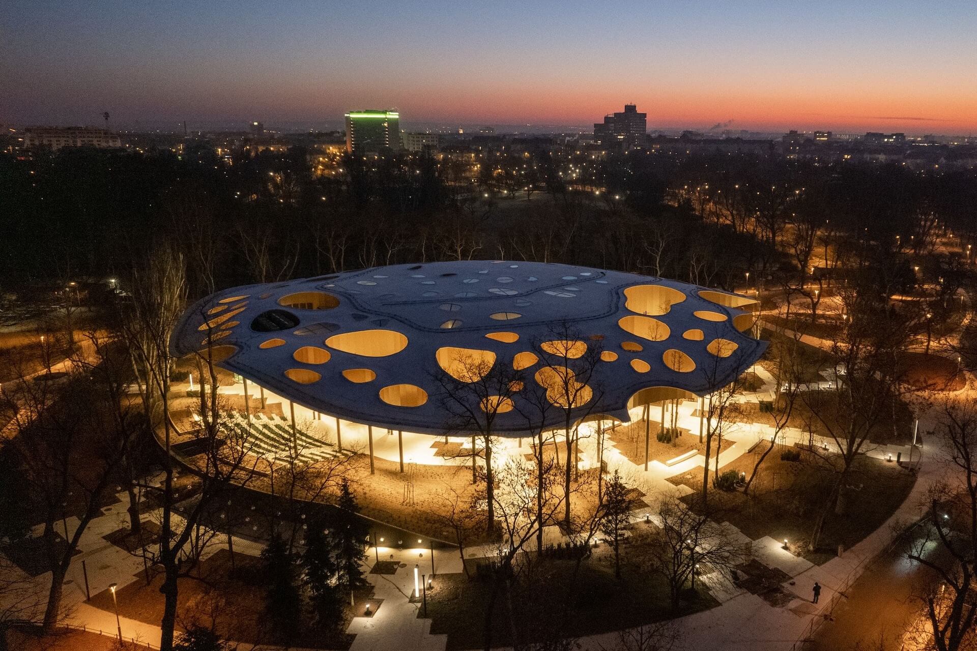
[[[466,463],[480,415],[504,458],[540,428],[563,437],[568,412],[592,428],[701,401],[764,351],[756,308],[567,264],[396,264],[219,292],[187,310],[171,347],[234,373],[220,390],[243,394],[235,418],[255,455],[357,450],[403,471]],[[600,464],[593,447],[581,468]]]

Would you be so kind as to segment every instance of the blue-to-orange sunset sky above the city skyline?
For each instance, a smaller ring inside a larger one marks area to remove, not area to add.
[[[977,133],[977,4],[0,4],[0,123],[341,119]]]

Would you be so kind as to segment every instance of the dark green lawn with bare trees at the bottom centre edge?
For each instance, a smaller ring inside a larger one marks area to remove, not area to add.
[[[625,551],[626,554],[626,551]],[[573,579],[573,561],[547,560],[536,565],[529,576],[514,582],[510,594],[500,593],[491,620],[492,646],[513,643],[509,603],[515,613],[514,626],[519,641],[551,640],[555,631],[569,637],[638,627],[672,617],[668,587],[657,575],[622,568],[622,578],[614,578],[610,551],[602,546],[585,559]],[[448,649],[482,648],[485,612],[490,584],[463,574],[439,575],[428,591],[428,617],[432,633],[447,634]],[[717,605],[708,592],[684,595],[686,615]],[[563,608],[567,608],[563,615]],[[418,617],[423,615],[418,610]]]

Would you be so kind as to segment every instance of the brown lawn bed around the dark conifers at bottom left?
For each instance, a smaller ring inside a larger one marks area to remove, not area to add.
[[[221,549],[200,563],[195,578],[180,579],[177,628],[183,630],[198,621],[210,626],[214,618],[216,631],[236,642],[250,644],[278,645],[289,642],[273,631],[265,614],[266,588],[261,581],[264,568],[260,558],[234,553],[234,569],[231,567],[231,554]],[[159,625],[163,615],[163,595],[159,592],[162,576],[153,577],[149,586],[142,580],[129,584],[117,591],[119,615]],[[358,596],[358,601],[366,593]],[[92,595],[91,605],[112,611],[112,595],[103,590]],[[335,631],[322,631],[304,624],[295,631],[290,643],[295,646],[314,649],[348,649],[355,635],[346,634],[352,613],[349,608],[344,613],[343,622]]]

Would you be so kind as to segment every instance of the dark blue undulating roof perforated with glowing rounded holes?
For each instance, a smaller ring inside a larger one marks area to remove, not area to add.
[[[397,264],[219,292],[184,314],[171,346],[210,350],[219,366],[321,413],[429,433],[452,422],[439,373],[465,382],[474,361],[543,383],[554,359],[573,372],[574,360],[599,350],[578,413],[626,421],[636,401],[732,382],[766,347],[750,336],[755,307],[736,294],[567,264]],[[554,337],[565,326],[573,341]],[[540,359],[548,355],[549,364]],[[642,390],[652,387],[678,390]],[[516,409],[496,410],[495,431],[525,432],[521,399],[516,392]]]

